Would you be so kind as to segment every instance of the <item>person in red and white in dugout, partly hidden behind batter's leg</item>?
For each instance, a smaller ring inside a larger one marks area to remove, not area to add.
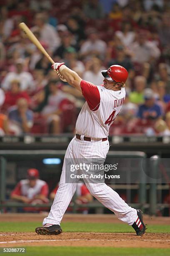
[[[59,183],[57,184],[57,186],[50,193],[50,200],[52,200],[52,201],[54,200],[58,187],[59,187]],[[90,192],[88,191],[86,185],[82,182],[79,182],[77,184],[75,195],[76,195],[75,202],[76,202],[77,205],[87,204],[89,202],[92,202],[92,200],[93,200],[93,197],[90,194]],[[72,202],[70,203],[70,206],[72,206]],[[67,208],[67,211],[71,211],[71,210],[72,210],[71,207]],[[86,208],[85,207],[78,208],[77,211],[82,212],[84,214],[87,214],[88,213],[88,208],[87,207]]]

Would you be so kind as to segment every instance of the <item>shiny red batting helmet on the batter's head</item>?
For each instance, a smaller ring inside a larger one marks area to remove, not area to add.
[[[109,81],[125,83],[128,78],[128,71],[120,65],[112,65],[107,70],[102,70],[102,75]]]

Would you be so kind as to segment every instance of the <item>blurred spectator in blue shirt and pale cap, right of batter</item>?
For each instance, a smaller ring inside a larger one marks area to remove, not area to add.
[[[163,111],[160,106],[155,103],[155,95],[152,89],[145,89],[144,100],[144,104],[139,107],[137,117],[142,120],[150,121],[156,121],[161,118]]]

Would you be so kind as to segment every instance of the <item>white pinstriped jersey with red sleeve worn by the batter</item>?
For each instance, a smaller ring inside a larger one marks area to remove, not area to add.
[[[125,88],[108,90],[82,80],[81,88],[86,99],[76,123],[77,134],[91,138],[105,138],[109,128],[122,108]]]

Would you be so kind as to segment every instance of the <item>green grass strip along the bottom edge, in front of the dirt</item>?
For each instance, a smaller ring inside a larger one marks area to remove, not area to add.
[[[170,249],[32,246],[26,248],[25,256],[47,256],[48,254],[57,256],[168,256]],[[15,253],[15,255],[21,255],[21,253]]]

